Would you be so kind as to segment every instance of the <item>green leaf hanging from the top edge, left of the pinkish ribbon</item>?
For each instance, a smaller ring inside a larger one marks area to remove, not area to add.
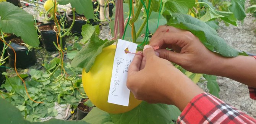
[[[72,8],[76,8],[78,14],[83,14],[87,19],[94,18],[94,10],[91,0],[57,0],[60,5],[71,4]]]

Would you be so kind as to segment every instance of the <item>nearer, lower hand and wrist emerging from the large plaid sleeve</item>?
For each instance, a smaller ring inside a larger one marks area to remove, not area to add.
[[[170,61],[159,58],[150,45],[145,45],[143,54],[134,56],[126,82],[138,100],[173,104],[183,110],[192,98],[203,93]]]

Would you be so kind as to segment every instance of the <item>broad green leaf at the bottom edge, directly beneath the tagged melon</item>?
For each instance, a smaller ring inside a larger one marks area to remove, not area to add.
[[[149,104],[143,101],[133,110],[122,114],[109,114],[98,108],[93,108],[83,120],[92,124],[145,124],[148,122],[169,124],[176,121],[180,113],[178,108],[173,105]]]

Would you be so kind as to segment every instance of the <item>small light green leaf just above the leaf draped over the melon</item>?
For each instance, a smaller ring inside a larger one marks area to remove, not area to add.
[[[92,35],[96,33],[99,35],[99,25],[92,26],[90,24],[85,24],[82,26],[82,36],[83,39],[81,39],[82,42],[87,42],[89,39],[91,39]]]

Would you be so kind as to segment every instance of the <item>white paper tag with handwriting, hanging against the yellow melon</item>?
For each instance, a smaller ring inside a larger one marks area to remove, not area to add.
[[[118,40],[108,98],[109,103],[123,106],[129,105],[130,90],[126,87],[126,81],[128,68],[135,56],[131,53],[125,53],[126,48],[129,49],[129,52],[136,53],[137,44]]]

